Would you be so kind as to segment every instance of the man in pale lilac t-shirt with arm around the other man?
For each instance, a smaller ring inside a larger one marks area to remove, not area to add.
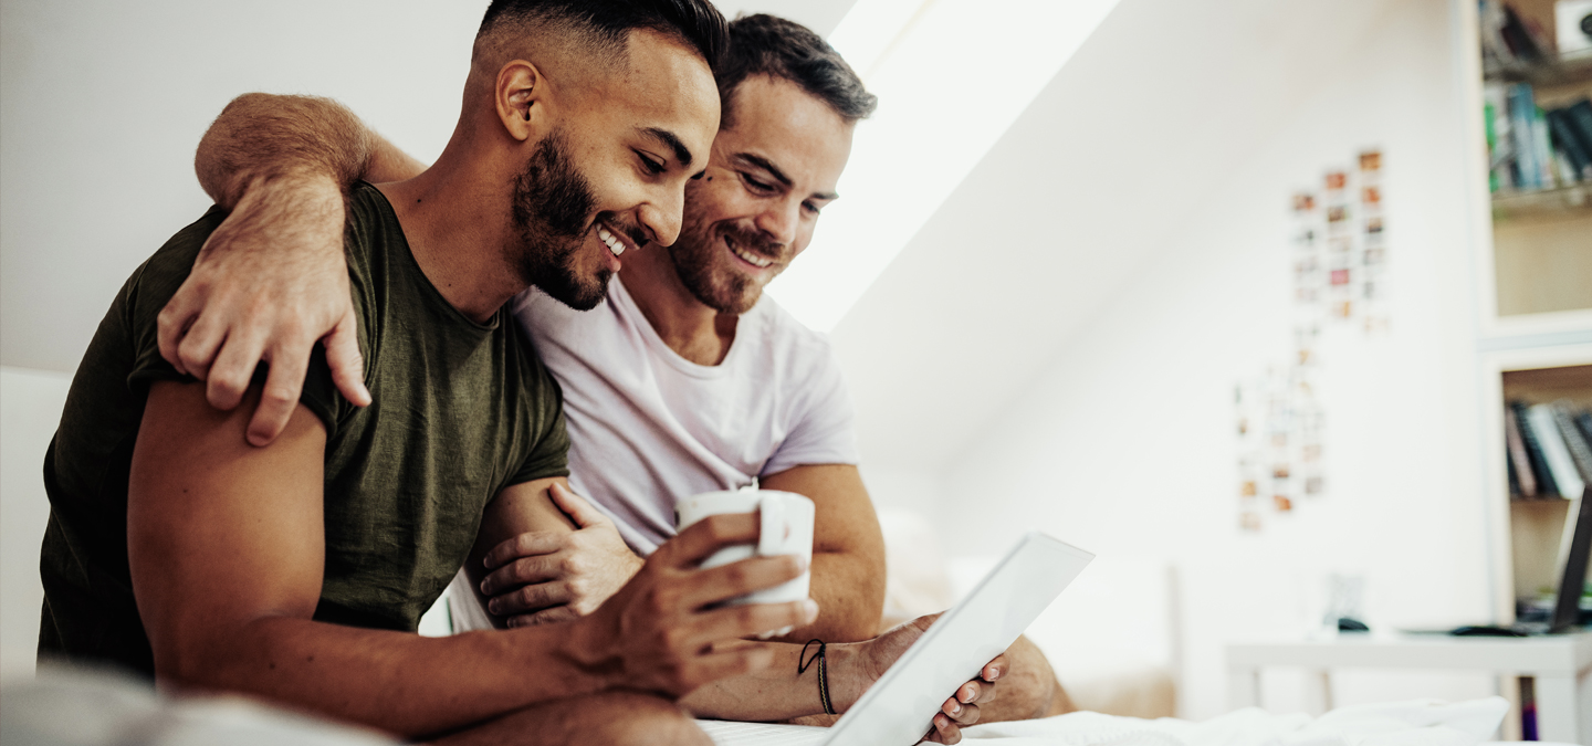
[[[756,480],[817,503],[812,595],[820,616],[788,639],[855,641],[879,631],[884,541],[856,472],[839,367],[821,336],[763,296],[767,282],[807,247],[823,205],[837,197],[855,122],[872,111],[874,97],[821,38],[771,16],[731,24],[728,62],[716,73],[720,134],[707,169],[686,189],[678,240],[624,254],[607,304],[595,310],[576,312],[535,293],[516,301],[516,317],[564,388],[572,487],[595,509],[554,490],[556,511],[544,511],[549,523],[473,555],[466,569],[490,573],[474,581],[462,574],[454,598],[466,601],[476,595],[466,592],[479,592],[495,619],[455,603],[455,624],[470,627],[473,617],[478,625],[538,624],[584,614],[622,585],[640,566],[638,555],[673,534],[675,501]],[[296,103],[302,108],[304,102]],[[266,121],[280,122],[282,110],[271,97],[240,99],[205,142],[215,150],[252,127],[282,126]],[[326,119],[352,118],[338,111]],[[301,127],[302,137],[320,138],[323,146],[338,142],[322,121]],[[360,137],[371,148],[366,180],[422,169],[374,134]],[[236,157],[223,165],[213,156],[201,146],[201,180],[250,177]],[[645,170],[654,156],[637,151],[634,157]],[[223,170],[228,165],[231,172]],[[162,313],[162,355],[180,369],[207,374],[212,402],[223,407],[236,406],[229,391],[247,385],[261,356],[307,356],[328,329],[333,367],[360,369],[358,350],[347,344],[347,317],[334,304],[339,291],[347,294],[334,283],[345,282],[341,256],[328,261],[306,248],[301,261],[282,262],[231,250],[248,248],[250,239],[282,242],[244,234],[226,251],[207,247]],[[621,240],[610,247],[616,258],[624,253]],[[287,250],[274,245],[272,256]],[[269,312],[250,313],[263,307]],[[234,344],[234,337],[259,342]],[[363,394],[357,379],[339,382],[350,401]],[[250,437],[269,441],[277,429],[277,415],[263,404]],[[1068,708],[1043,655],[1025,641],[1019,647],[1008,655],[1008,681],[1020,684],[1008,686],[995,703],[1005,713],[985,713],[985,721]],[[1024,697],[1014,697],[1014,689]],[[960,708],[947,705],[947,717],[936,717],[936,725],[962,722],[954,709]]]

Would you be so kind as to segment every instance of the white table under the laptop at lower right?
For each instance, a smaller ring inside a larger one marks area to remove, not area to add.
[[[1339,635],[1227,646],[1231,705],[1261,705],[1261,670],[1307,668],[1321,709],[1331,709],[1334,668],[1490,671],[1536,679],[1536,732],[1544,741],[1592,746],[1592,631],[1541,638]]]

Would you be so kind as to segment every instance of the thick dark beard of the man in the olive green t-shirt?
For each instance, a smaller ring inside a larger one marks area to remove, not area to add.
[[[608,296],[613,277],[603,267],[586,278],[573,266],[595,204],[591,181],[570,164],[562,130],[543,138],[514,177],[511,216],[519,243],[505,247],[505,258],[525,285],[575,310],[595,309]]]

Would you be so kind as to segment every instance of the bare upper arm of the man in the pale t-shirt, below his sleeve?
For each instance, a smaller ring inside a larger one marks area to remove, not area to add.
[[[793,466],[763,477],[759,485],[794,492],[814,501],[814,552],[856,552],[876,560],[884,571],[884,533],[856,466]]]

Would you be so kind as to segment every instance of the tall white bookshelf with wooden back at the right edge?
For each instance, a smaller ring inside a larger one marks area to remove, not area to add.
[[[1555,37],[1552,0],[1508,0],[1514,13]],[[1493,616],[1514,620],[1516,596],[1552,585],[1565,522],[1563,499],[1511,499],[1504,442],[1509,401],[1592,406],[1592,178],[1555,178],[1543,188],[1500,185],[1489,153],[1489,103],[1498,86],[1530,84],[1551,110],[1592,97],[1592,51],[1546,49],[1533,62],[1500,62],[1484,51],[1476,0],[1455,0],[1458,72],[1468,89],[1473,259],[1484,490],[1490,526]],[[1489,91],[1492,86],[1492,91]],[[1562,177],[1562,173],[1559,173]]]

